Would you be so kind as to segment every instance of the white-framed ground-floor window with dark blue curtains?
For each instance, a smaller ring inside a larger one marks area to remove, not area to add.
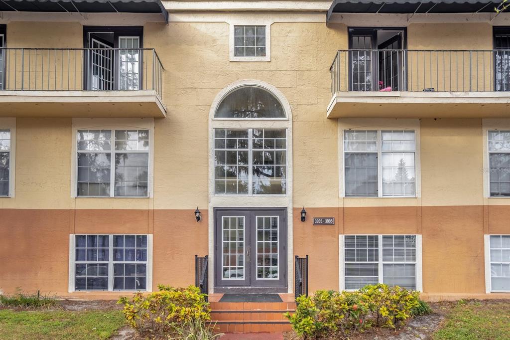
[[[69,292],[152,287],[152,235],[70,235]]]

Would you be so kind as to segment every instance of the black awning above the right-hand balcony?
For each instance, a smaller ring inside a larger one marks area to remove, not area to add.
[[[333,13],[494,13],[501,2],[494,0],[333,0]]]

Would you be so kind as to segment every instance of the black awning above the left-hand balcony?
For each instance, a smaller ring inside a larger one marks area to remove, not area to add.
[[[0,11],[69,13],[161,13],[161,0],[0,0]]]

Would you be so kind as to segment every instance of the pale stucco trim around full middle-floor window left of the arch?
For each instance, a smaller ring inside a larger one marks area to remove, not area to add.
[[[148,197],[136,197],[147,199],[154,197],[154,118],[73,118],[71,133],[71,198],[133,198],[133,197],[78,197],[77,196],[77,132],[85,129],[103,129],[103,130],[130,130],[144,129],[149,130],[149,168],[148,168]],[[113,136],[112,136],[113,138]],[[113,148],[114,143],[112,143]],[[113,171],[113,169],[112,169]],[[113,183],[111,183],[113,185]]]

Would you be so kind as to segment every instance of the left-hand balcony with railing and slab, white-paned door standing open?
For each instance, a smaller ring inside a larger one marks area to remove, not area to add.
[[[0,48],[0,116],[165,117],[152,48]]]

